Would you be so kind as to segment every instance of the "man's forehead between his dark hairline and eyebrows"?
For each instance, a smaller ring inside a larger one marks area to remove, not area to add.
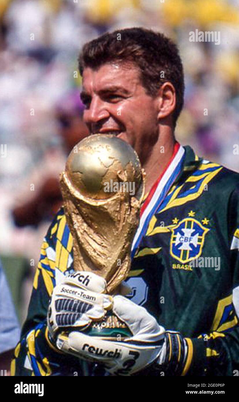
[[[142,86],[139,70],[133,64],[103,64],[97,70],[87,67],[84,69],[82,78],[83,89],[87,92],[99,92],[110,86],[131,91],[138,85]]]

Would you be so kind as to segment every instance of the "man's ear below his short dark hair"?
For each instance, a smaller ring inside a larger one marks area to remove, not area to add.
[[[164,82],[157,95],[158,119],[171,115],[176,107],[176,91],[171,82]]]

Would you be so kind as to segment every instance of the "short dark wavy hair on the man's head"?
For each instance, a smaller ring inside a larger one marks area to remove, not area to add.
[[[176,125],[184,104],[184,72],[177,46],[162,33],[144,28],[105,33],[84,45],[78,61],[81,75],[86,67],[97,69],[110,62],[133,62],[141,72],[142,85],[151,96],[157,94],[164,82],[171,82],[176,90],[173,113]]]

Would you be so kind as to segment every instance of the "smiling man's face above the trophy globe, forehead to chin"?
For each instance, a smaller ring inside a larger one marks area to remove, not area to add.
[[[146,94],[135,66],[85,68],[81,98],[90,133],[115,134],[136,150],[141,162],[147,159],[158,138],[157,105]]]

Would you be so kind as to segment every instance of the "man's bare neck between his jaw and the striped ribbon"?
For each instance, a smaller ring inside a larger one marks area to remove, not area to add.
[[[159,139],[153,146],[149,158],[142,166],[146,172],[145,194],[149,193],[151,187],[170,161],[175,143],[176,140],[173,135],[159,135]]]

